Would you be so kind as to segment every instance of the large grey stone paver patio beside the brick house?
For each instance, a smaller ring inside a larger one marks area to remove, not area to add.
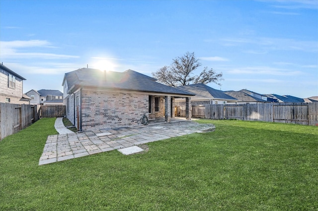
[[[48,136],[39,165],[214,130],[213,124],[177,121]]]

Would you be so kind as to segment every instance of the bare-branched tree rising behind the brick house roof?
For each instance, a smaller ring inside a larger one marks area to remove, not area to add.
[[[194,53],[185,53],[181,57],[172,59],[173,62],[170,66],[161,67],[157,72],[153,72],[152,75],[158,80],[158,82],[170,87],[185,86],[189,84],[210,82],[218,83],[223,80],[222,72],[216,73],[212,68],[204,67],[203,71],[199,75],[193,75],[193,71],[201,66],[199,59],[195,58]]]

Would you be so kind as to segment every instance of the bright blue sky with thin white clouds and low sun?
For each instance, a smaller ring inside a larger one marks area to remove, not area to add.
[[[318,96],[318,0],[0,0],[0,62],[24,92],[86,67],[152,76],[194,52],[215,89]]]

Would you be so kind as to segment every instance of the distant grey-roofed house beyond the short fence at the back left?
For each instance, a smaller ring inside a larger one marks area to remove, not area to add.
[[[30,104],[63,105],[63,93],[59,90],[30,90],[25,95],[31,98]]]

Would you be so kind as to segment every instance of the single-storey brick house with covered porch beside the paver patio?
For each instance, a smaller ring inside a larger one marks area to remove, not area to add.
[[[176,98],[187,99],[187,119],[191,118],[192,94],[133,70],[81,68],[66,73],[62,85],[66,116],[78,130],[138,126],[144,114],[169,122]]]

